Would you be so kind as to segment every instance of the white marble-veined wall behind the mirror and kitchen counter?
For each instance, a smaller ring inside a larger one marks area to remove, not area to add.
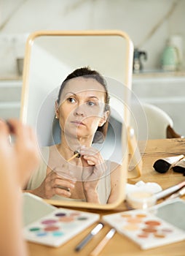
[[[1,0],[0,77],[17,74],[16,58],[36,30],[120,29],[147,51],[144,68],[158,69],[170,35],[185,44],[184,10],[184,0]]]

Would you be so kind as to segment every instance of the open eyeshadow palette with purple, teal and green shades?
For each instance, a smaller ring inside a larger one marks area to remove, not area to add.
[[[38,244],[46,244],[48,246],[58,247],[61,244],[66,243],[69,239],[76,236],[76,234],[82,232],[85,228],[96,222],[100,216],[99,214],[92,214],[84,211],[76,211],[67,208],[51,208],[49,206],[49,214],[43,214],[39,219],[34,220],[34,222],[28,222],[28,214],[31,219],[34,219],[34,212],[41,209],[46,212],[47,205],[43,200],[38,200],[32,195],[24,195],[25,200],[25,211],[23,215],[27,212],[27,222],[25,222],[25,227],[23,227],[23,235],[27,241],[32,241]],[[35,205],[34,211],[30,213],[30,206]],[[47,209],[48,210],[48,209]],[[29,213],[28,213],[29,211]],[[38,216],[38,214],[37,214]]]

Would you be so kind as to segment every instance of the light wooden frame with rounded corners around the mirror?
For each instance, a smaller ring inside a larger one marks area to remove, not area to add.
[[[31,69],[31,49],[34,45],[34,40],[38,37],[54,36],[54,37],[68,37],[68,36],[117,36],[123,37],[126,42],[126,61],[127,67],[125,67],[125,80],[122,83],[131,90],[132,84],[132,73],[133,73],[133,43],[130,37],[123,31],[36,31],[28,37],[26,47],[25,47],[25,59],[23,67],[23,91],[21,98],[21,110],[20,119],[24,123],[27,123],[27,110],[28,110],[28,88],[29,88],[29,72]],[[129,100],[129,99],[128,99]],[[127,137],[127,127],[129,127],[129,112],[124,111],[125,126],[122,125],[122,146],[128,147],[128,137]],[[126,131],[125,128],[126,127]],[[97,204],[97,203],[87,203],[87,202],[76,202],[76,201],[66,201],[66,200],[46,200],[55,206],[68,206],[68,207],[80,207],[80,208],[99,208],[99,209],[111,209],[117,207],[125,199],[125,186],[127,182],[127,170],[128,168],[128,150],[126,156],[122,159],[122,174],[119,178],[122,182],[121,190],[119,193],[119,198],[115,203],[109,204]]]

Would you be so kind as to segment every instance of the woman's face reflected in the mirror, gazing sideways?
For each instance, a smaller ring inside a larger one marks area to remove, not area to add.
[[[93,78],[68,80],[56,103],[56,116],[66,135],[88,138],[92,142],[95,131],[106,122],[109,111],[105,109],[105,90]]]

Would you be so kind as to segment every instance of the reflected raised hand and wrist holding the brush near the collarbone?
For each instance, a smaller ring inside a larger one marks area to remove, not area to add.
[[[101,177],[106,173],[106,162],[96,148],[82,146],[82,184],[88,202],[99,203],[97,187]],[[96,201],[96,202],[95,202]]]

